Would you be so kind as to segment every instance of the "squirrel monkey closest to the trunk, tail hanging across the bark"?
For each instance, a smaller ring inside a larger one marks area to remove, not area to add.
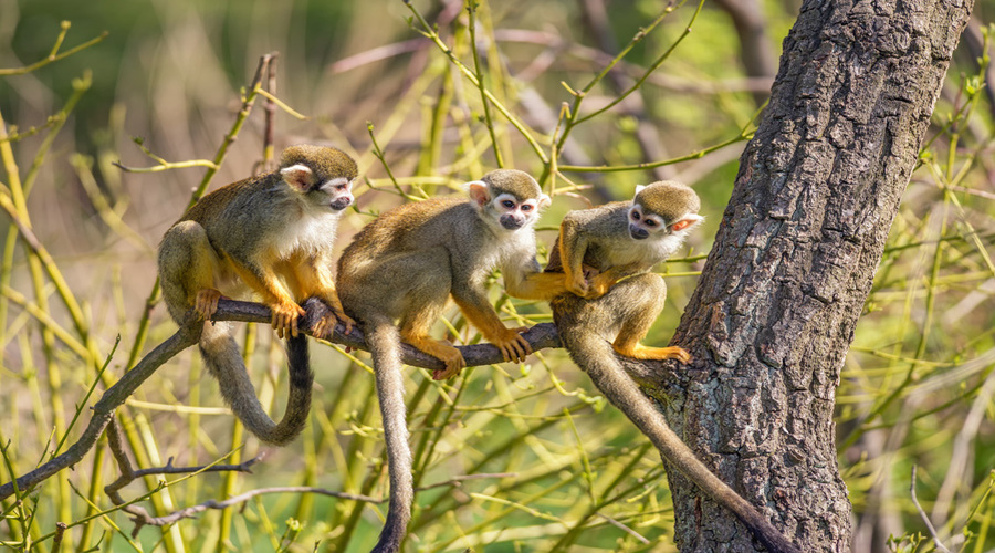
[[[637,187],[630,202],[567,213],[546,267],[547,273],[563,272],[569,289],[549,302],[553,320],[574,362],[671,467],[730,509],[769,551],[797,552],[750,502],[694,457],[615,357],[618,353],[639,359],[691,361],[681,347],[647,347],[640,341],[667,295],[663,279],[649,271],[677,251],[702,221],[700,207],[694,190],[664,180]]]

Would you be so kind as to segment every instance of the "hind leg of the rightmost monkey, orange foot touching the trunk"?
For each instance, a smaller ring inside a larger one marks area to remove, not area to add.
[[[621,326],[611,344],[617,353],[637,359],[691,361],[691,355],[682,347],[650,347],[639,343],[646,337],[667,299],[667,285],[660,275],[639,274],[616,284],[616,288],[618,295],[626,299],[619,302],[622,305]]]

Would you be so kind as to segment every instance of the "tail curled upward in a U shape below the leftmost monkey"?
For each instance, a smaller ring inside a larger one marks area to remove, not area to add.
[[[286,409],[279,424],[266,415],[255,397],[255,387],[249,379],[241,349],[228,325],[206,324],[200,336],[200,353],[208,371],[218,380],[221,397],[250,432],[274,446],[290,444],[301,434],[311,411],[311,388],[314,384],[314,373],[307,358],[307,336],[300,334],[286,341],[290,389]]]

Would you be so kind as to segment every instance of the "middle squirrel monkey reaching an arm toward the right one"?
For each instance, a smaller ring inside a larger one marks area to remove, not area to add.
[[[542,273],[533,225],[549,204],[528,174],[498,169],[467,185],[469,201],[433,198],[381,213],[338,260],[345,310],[363,325],[373,354],[390,474],[389,513],[375,552],[400,549],[413,500],[405,422],[401,340],[441,359],[432,378],[465,366],[451,344],[429,337],[450,296],[505,359],[532,348],[524,327],[507,328],[488,301],[486,279],[501,268],[509,294],[549,300],[566,291],[563,275]],[[395,322],[399,324],[396,326]]]

